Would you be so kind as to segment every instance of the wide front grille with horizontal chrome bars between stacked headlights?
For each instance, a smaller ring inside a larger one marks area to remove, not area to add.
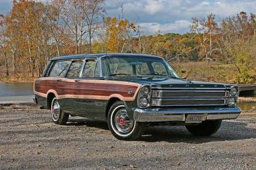
[[[227,104],[226,89],[168,89],[152,91],[152,106],[221,106]]]

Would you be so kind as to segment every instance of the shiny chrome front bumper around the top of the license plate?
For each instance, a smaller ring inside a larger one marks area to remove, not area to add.
[[[231,120],[241,113],[239,107],[210,108],[210,109],[164,109],[164,108],[136,108],[134,120],[138,122],[166,122],[185,121],[188,114],[207,114],[205,120]]]

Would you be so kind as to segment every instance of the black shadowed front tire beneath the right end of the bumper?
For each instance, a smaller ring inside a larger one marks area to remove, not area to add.
[[[221,126],[222,120],[206,120],[201,124],[185,126],[193,135],[207,136],[216,133]]]

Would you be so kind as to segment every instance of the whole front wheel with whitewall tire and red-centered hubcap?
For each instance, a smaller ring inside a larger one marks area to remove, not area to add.
[[[115,102],[109,109],[107,123],[113,136],[118,140],[136,140],[145,130],[143,122],[131,120],[123,102]]]

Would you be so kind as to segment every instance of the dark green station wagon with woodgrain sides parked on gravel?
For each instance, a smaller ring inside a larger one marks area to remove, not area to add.
[[[212,135],[241,113],[237,86],[183,79],[153,55],[56,57],[35,79],[34,93],[55,124],[66,124],[69,115],[103,120],[119,140],[136,140],[152,124]]]

